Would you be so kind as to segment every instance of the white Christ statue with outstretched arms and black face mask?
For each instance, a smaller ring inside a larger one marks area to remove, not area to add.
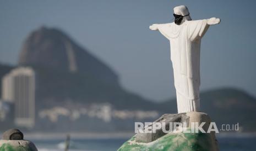
[[[210,25],[220,23],[218,18],[192,20],[188,8],[175,7],[175,22],[153,24],[150,30],[159,30],[171,45],[178,113],[200,111],[200,43]]]

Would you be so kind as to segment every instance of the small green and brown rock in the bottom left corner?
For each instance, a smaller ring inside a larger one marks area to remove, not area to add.
[[[29,150],[37,151],[34,143],[23,140],[23,133],[18,129],[9,129],[3,133],[0,140],[1,151]]]

